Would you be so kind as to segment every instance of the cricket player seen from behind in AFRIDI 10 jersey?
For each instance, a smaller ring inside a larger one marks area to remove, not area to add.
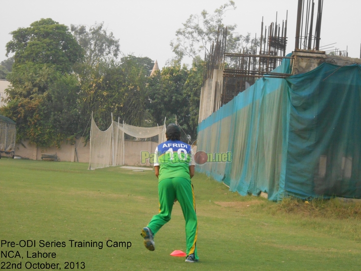
[[[186,220],[187,257],[186,262],[198,262],[196,241],[198,234],[195,214],[194,191],[191,178],[194,175],[194,157],[190,145],[180,141],[180,127],[171,123],[167,126],[167,141],[155,150],[155,175],[159,179],[159,214],[153,216],[141,235],[144,246],[153,251],[154,235],[170,220],[173,204],[178,200]]]

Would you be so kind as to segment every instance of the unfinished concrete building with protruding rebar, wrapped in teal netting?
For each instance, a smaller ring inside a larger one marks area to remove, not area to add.
[[[291,54],[286,20],[241,54],[227,54],[219,31],[206,59],[197,150],[232,161],[196,169],[241,195],[361,198],[361,60],[320,50],[323,3],[309,2],[298,2]]]

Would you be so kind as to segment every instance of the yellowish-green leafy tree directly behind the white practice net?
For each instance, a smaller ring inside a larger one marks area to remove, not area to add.
[[[149,125],[146,83],[153,65],[148,57],[128,55],[120,61],[100,61],[79,73],[81,114],[88,116],[83,120],[93,112],[97,125],[104,130],[113,113],[120,122]]]

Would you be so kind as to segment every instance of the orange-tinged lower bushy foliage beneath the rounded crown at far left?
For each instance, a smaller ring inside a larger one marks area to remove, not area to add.
[[[61,74],[52,67],[27,63],[9,75],[8,104],[3,115],[17,123],[17,139],[29,139],[41,147],[73,141],[78,131],[79,113],[74,74]]]

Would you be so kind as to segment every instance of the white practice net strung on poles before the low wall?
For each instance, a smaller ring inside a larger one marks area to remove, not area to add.
[[[158,136],[158,143],[166,141],[165,125],[157,127],[137,127],[113,122],[106,131],[101,131],[92,117],[90,129],[89,169],[124,165],[124,134],[137,139]]]

